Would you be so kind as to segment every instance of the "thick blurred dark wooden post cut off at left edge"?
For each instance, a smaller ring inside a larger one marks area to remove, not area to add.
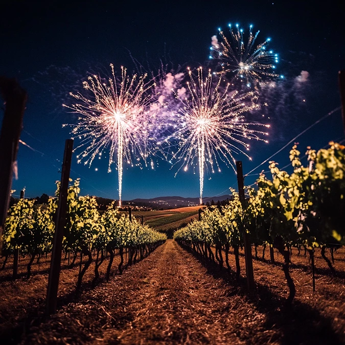
[[[14,79],[0,77],[0,93],[6,103],[0,134],[0,254],[3,229],[10,203],[13,170],[16,167],[19,137],[27,93]]]

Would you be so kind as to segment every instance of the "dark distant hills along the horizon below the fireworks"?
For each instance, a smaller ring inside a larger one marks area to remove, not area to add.
[[[205,197],[202,198],[204,203],[210,202],[213,200],[215,203],[219,201],[223,201],[226,199],[231,199],[231,195],[221,195],[221,196],[213,196],[213,197]],[[171,209],[171,208],[178,208],[178,207],[186,207],[186,206],[196,206],[199,204],[199,198],[183,198],[181,196],[160,196],[151,199],[143,199],[143,198],[136,198],[133,200],[126,201],[126,203],[136,205],[136,206],[149,206],[154,209],[163,208],[163,209]]]

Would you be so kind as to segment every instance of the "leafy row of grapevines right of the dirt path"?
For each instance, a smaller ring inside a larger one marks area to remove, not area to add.
[[[282,268],[289,287],[289,302],[296,293],[289,273],[292,247],[300,252],[303,246],[308,251],[313,273],[314,251],[319,247],[321,256],[336,275],[326,256],[326,248],[331,249],[334,263],[334,248],[345,243],[345,147],[331,143],[329,149],[318,152],[308,149],[306,155],[307,166],[303,166],[300,151],[294,145],[290,151],[291,175],[280,170],[277,163],[270,162],[272,179],[260,174],[257,189],[247,188],[245,205],[233,191],[234,198],[229,205],[205,210],[200,221],[179,229],[174,235],[175,240],[204,258],[215,261],[216,257],[221,267],[224,251],[228,269],[231,269],[228,253],[232,247],[237,277],[240,277],[239,247],[243,247],[243,231],[255,244],[256,253],[258,245],[263,246],[263,259],[266,247],[269,248],[272,264],[272,251],[277,248],[284,258]],[[211,245],[215,246],[215,255]]]

